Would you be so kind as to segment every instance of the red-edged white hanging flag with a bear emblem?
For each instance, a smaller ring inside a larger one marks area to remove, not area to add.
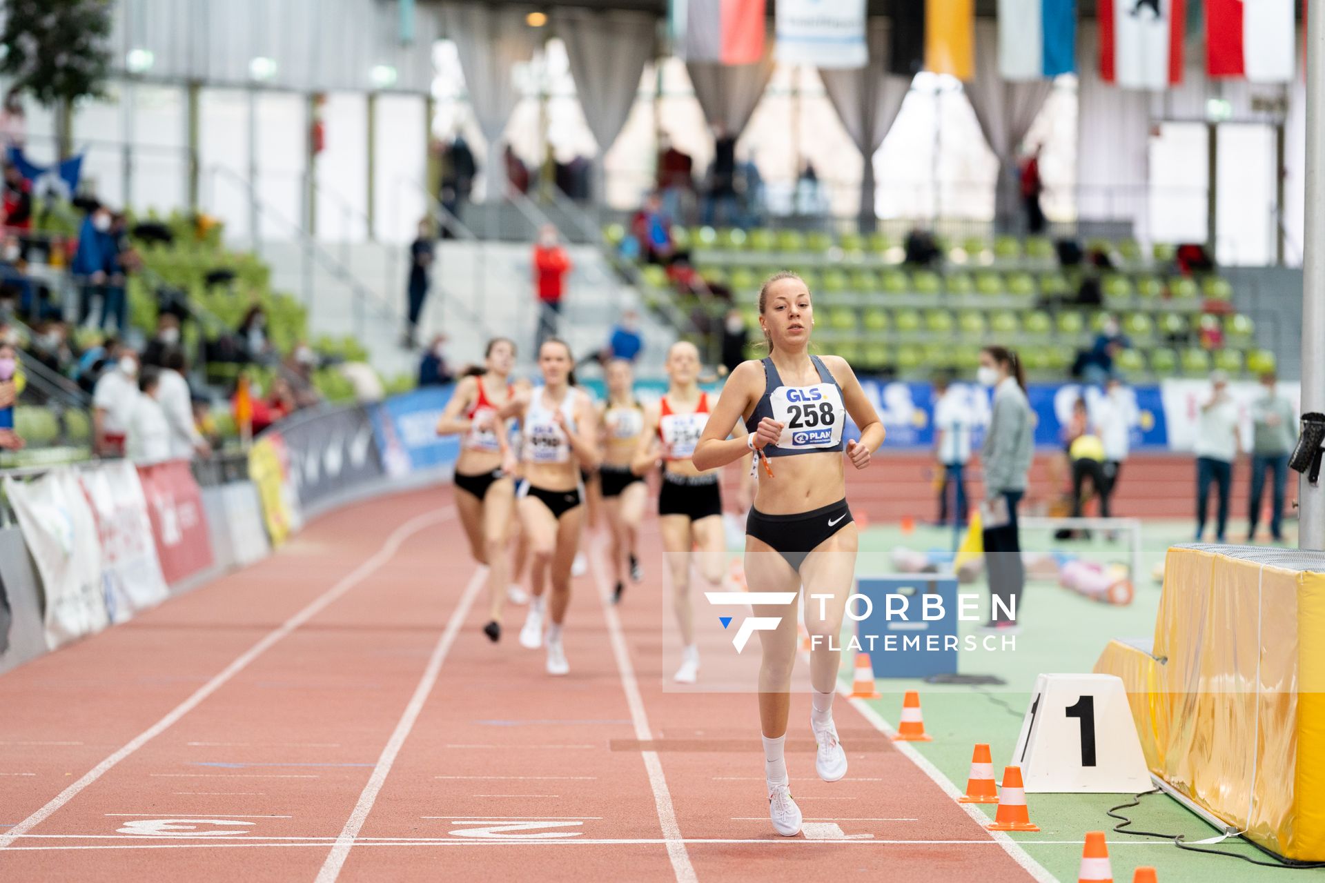
[[[1124,89],[1182,82],[1186,0],[1100,0],[1100,78]]]

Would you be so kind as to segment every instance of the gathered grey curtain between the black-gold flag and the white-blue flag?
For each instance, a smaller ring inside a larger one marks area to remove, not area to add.
[[[975,78],[962,83],[984,140],[998,158],[994,217],[1006,221],[1016,210],[1016,152],[1053,89],[1049,79],[1008,82],[998,70],[998,25],[975,23]]]

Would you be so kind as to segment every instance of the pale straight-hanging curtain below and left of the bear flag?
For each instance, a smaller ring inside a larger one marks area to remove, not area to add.
[[[1077,217],[1130,220],[1149,240],[1150,94],[1100,79],[1093,21],[1077,37]]]

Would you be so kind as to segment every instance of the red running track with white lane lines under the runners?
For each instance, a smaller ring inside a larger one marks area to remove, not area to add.
[[[794,699],[812,826],[774,834],[754,696],[664,690],[656,526],[620,608],[592,545],[567,678],[515,642],[522,608],[500,645],[478,631],[437,490],[0,676],[0,879],[1049,879],[847,702],[828,785]]]

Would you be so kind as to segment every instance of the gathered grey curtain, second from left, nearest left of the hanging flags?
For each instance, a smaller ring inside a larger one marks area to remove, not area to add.
[[[655,16],[644,12],[556,11],[556,33],[566,44],[584,122],[598,142],[594,195],[603,199],[603,159],[621,134],[653,57]]]

